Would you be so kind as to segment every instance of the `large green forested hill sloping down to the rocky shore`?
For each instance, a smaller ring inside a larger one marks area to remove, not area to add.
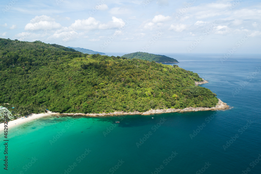
[[[0,103],[64,113],[212,107],[197,73],[155,61],[88,55],[40,41],[0,38]]]

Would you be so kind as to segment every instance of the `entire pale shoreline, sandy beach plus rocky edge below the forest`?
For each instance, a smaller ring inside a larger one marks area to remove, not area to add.
[[[207,82],[208,83],[208,82]],[[163,114],[163,113],[171,113],[171,112],[195,112],[195,111],[215,111],[215,110],[225,110],[225,109],[230,109],[227,105],[227,103],[222,102],[218,98],[218,103],[216,106],[211,107],[211,108],[203,108],[203,107],[197,107],[197,108],[184,108],[184,109],[150,109],[149,111],[146,112],[139,112],[139,111],[134,111],[134,112],[124,112],[124,111],[116,111],[116,112],[110,112],[110,113],[96,113],[96,114],[84,114],[84,113],[55,113],[51,111],[47,111],[47,113],[43,114],[32,114],[31,116],[27,116],[27,118],[22,117],[16,120],[12,120],[8,122],[8,129],[10,130],[11,127],[14,127],[19,124],[26,123],[31,120],[35,120],[41,117],[45,116],[50,116],[50,115],[68,115],[68,116],[73,116],[73,115],[81,115],[81,116],[89,116],[89,117],[103,117],[103,116],[114,116],[114,115],[151,115],[151,114]],[[4,123],[0,124],[0,131],[4,130]]]

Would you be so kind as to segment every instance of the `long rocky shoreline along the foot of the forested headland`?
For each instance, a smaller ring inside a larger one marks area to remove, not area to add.
[[[118,111],[118,112],[112,112],[112,113],[99,113],[99,114],[84,114],[84,113],[52,113],[48,112],[49,114],[57,114],[57,115],[83,115],[83,116],[90,116],[90,117],[99,117],[99,116],[112,116],[112,115],[150,115],[150,114],[162,114],[162,113],[170,113],[170,112],[191,112],[191,111],[210,111],[210,110],[224,110],[229,109],[230,107],[227,105],[227,103],[222,102],[220,99],[218,99],[218,103],[215,107],[211,108],[203,108],[203,107],[197,107],[197,108],[184,108],[184,109],[151,109],[146,112],[124,112],[124,111]]]

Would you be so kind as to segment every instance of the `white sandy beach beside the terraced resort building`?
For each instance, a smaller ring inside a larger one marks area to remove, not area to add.
[[[44,113],[44,114],[32,114],[30,116],[27,116],[27,118],[25,118],[25,117],[18,118],[16,120],[9,121],[8,122],[8,128],[11,128],[13,126],[20,125],[22,123],[25,123],[25,122],[28,122],[28,121],[31,121],[31,120],[35,120],[35,119],[38,119],[38,118],[41,118],[41,117],[46,117],[46,116],[52,115],[52,114],[56,114],[56,113],[49,111],[48,113]],[[0,131],[2,131],[2,130],[4,130],[4,123],[0,124]]]

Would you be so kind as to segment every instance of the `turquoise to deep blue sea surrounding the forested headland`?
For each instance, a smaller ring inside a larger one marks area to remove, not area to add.
[[[9,130],[8,171],[1,173],[243,173],[248,167],[247,173],[261,173],[261,56],[236,55],[223,63],[222,55],[167,56],[209,80],[201,86],[233,108],[40,118]],[[0,143],[2,159],[3,133]]]

